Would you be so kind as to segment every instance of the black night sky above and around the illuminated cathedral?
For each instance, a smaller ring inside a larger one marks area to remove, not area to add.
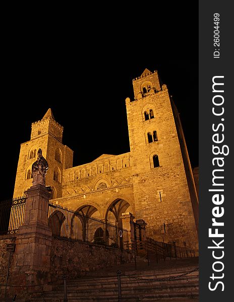
[[[0,200],[12,197],[20,144],[48,108],[64,126],[74,166],[129,152],[125,99],[133,99],[132,80],[145,68],[158,70],[173,96],[192,167],[198,166],[198,14],[186,10],[168,4],[144,15],[140,8],[108,14],[99,8],[84,12],[83,21],[81,12],[48,14],[8,29],[2,38]]]

